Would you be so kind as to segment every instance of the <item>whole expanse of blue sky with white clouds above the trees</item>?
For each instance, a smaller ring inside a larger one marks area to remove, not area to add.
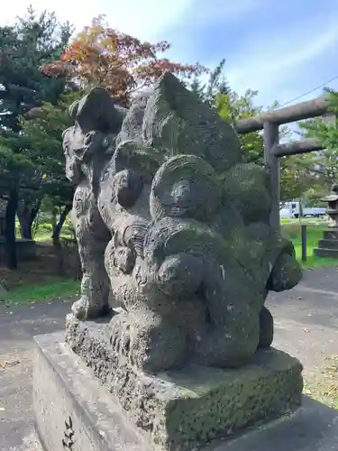
[[[23,15],[30,2],[15,0],[0,23]],[[122,32],[172,43],[169,58],[214,68],[226,59],[234,90],[260,91],[258,103],[284,104],[338,76],[338,0],[32,0],[37,11],[55,10],[78,29],[106,14]],[[330,83],[338,89],[337,80]],[[321,89],[302,97],[321,95]]]

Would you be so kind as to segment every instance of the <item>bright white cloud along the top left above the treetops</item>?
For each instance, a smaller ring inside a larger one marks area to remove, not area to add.
[[[260,5],[264,0],[260,0]],[[93,17],[105,14],[111,26],[144,40],[165,39],[166,30],[178,23],[215,23],[239,17],[257,8],[257,0],[96,0],[86,6],[83,0],[32,0],[33,9],[41,13],[54,11],[61,22],[73,23],[77,30],[90,23]],[[14,0],[2,9],[0,24],[13,23],[16,16],[27,10],[27,0]]]

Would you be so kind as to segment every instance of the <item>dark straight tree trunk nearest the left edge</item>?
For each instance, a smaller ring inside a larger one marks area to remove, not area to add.
[[[9,193],[5,212],[5,252],[9,270],[16,270],[18,267],[15,241],[15,216],[18,201],[18,191],[14,189]]]

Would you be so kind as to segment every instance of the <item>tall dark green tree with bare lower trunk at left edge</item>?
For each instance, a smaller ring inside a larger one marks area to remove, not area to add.
[[[30,160],[20,117],[43,101],[54,104],[66,86],[65,78],[47,78],[41,64],[59,57],[69,41],[69,23],[55,14],[37,16],[29,8],[13,26],[0,27],[0,147],[3,171],[0,195],[6,205],[6,250],[9,268],[16,268],[15,215],[23,191],[39,191],[41,172]]]

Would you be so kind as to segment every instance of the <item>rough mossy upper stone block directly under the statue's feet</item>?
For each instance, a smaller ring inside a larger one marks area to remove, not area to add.
[[[270,348],[238,370],[187,365],[150,376],[112,350],[107,322],[69,315],[67,342],[159,449],[194,449],[300,405],[302,366],[288,354]]]

